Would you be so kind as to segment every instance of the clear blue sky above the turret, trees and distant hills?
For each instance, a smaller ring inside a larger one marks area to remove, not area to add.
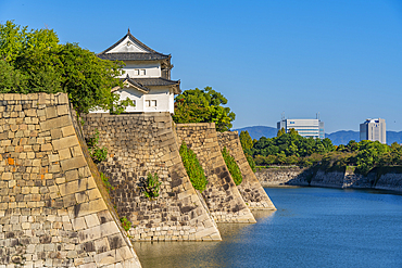
[[[181,90],[222,92],[234,128],[319,112],[328,133],[374,117],[402,130],[401,0],[0,0],[9,20],[97,53],[129,27],[172,54]]]

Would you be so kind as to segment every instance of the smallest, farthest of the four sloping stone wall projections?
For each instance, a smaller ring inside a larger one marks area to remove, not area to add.
[[[251,169],[237,131],[217,132],[221,151],[226,148],[240,168],[242,181],[237,187],[249,208],[276,209]]]

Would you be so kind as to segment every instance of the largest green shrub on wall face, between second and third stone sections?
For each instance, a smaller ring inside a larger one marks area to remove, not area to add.
[[[202,166],[198,161],[196,153],[187,146],[185,141],[183,141],[180,145],[180,156],[192,187],[200,192],[205,190],[205,187],[208,184],[205,173],[202,169]]]

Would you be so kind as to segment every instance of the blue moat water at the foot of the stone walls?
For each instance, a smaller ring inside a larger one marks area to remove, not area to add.
[[[143,268],[402,267],[402,195],[267,188],[275,213],[219,224],[222,242],[137,242]]]

